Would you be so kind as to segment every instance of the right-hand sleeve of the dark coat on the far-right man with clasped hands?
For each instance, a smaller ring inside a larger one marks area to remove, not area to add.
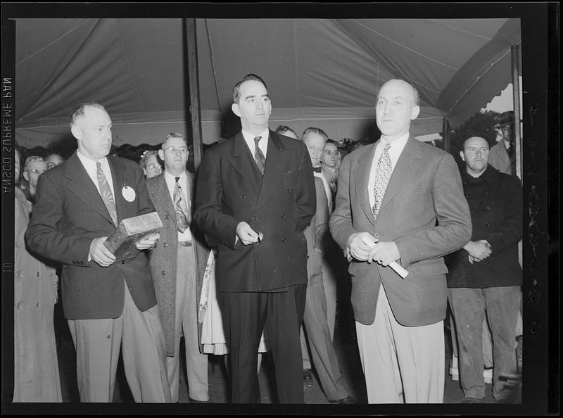
[[[522,186],[516,176],[502,175],[501,188],[505,189],[505,213],[498,229],[483,236],[492,247],[492,255],[502,253],[522,238]]]

